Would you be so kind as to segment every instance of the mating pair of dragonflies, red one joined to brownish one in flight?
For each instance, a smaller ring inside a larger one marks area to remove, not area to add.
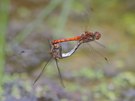
[[[36,83],[36,81],[42,75],[42,73],[43,73],[44,69],[46,68],[47,64],[52,59],[54,59],[55,62],[56,62],[56,66],[57,66],[57,69],[58,69],[59,76],[60,76],[61,84],[64,87],[64,83],[63,83],[63,80],[62,80],[62,75],[61,75],[61,72],[60,72],[60,68],[58,66],[58,59],[67,58],[67,57],[71,56],[73,53],[75,53],[75,51],[79,48],[79,46],[81,44],[92,42],[92,41],[96,41],[96,40],[99,40],[100,38],[101,38],[101,34],[99,32],[94,32],[93,33],[93,32],[86,31],[85,33],[81,34],[80,36],[76,36],[76,37],[73,37],[73,38],[65,38],[65,39],[51,41],[50,42],[50,44],[51,44],[51,49],[50,49],[51,58],[47,61],[47,63],[43,67],[43,69],[40,72],[39,76],[34,81],[34,84]],[[68,41],[77,41],[77,45],[75,45],[75,47],[71,51],[69,51],[67,53],[62,53],[62,46],[61,46],[60,43],[68,42]],[[106,57],[105,57],[105,60],[107,61]]]

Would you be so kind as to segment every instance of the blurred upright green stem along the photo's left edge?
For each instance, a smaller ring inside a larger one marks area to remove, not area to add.
[[[5,73],[5,45],[6,45],[6,32],[9,14],[9,0],[0,2],[0,98],[2,98]]]

